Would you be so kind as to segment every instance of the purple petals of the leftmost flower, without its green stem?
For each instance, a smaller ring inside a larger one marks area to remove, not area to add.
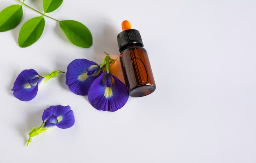
[[[38,75],[34,69],[23,70],[13,83],[13,96],[22,101],[32,100],[38,91],[38,83],[43,77]]]

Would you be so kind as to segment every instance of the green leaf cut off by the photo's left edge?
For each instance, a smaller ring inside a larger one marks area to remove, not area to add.
[[[13,4],[0,12],[0,32],[17,27],[23,16],[22,6]]]

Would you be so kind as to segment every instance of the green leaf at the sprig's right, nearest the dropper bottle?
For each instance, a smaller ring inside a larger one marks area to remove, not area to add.
[[[67,38],[74,45],[83,48],[92,46],[92,34],[81,22],[75,20],[62,20],[59,24]]]

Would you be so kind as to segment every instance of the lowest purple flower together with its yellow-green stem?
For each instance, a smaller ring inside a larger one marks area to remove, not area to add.
[[[43,124],[37,129],[33,127],[31,132],[29,132],[29,139],[27,140],[27,146],[32,141],[32,137],[46,132],[49,127],[57,126],[62,129],[70,128],[75,123],[74,113],[70,109],[70,106],[51,106],[45,109],[43,112]]]

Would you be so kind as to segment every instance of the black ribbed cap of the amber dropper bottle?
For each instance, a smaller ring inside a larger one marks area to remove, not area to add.
[[[122,52],[124,49],[131,45],[143,47],[141,36],[139,34],[139,31],[136,29],[127,29],[119,33],[117,35],[117,43],[120,52]]]

